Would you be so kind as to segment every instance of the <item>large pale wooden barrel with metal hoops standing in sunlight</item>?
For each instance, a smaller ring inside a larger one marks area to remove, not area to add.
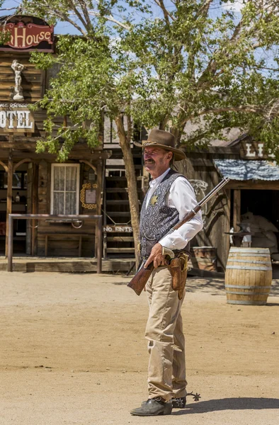
[[[268,248],[229,250],[225,288],[228,304],[265,305],[271,290],[272,267]]]

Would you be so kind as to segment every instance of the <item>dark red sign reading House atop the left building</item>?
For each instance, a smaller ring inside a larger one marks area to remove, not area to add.
[[[13,52],[52,52],[54,27],[33,16],[13,16],[7,21],[0,18],[1,33],[8,33],[8,41],[0,45],[0,50]]]

